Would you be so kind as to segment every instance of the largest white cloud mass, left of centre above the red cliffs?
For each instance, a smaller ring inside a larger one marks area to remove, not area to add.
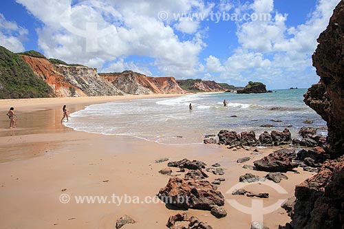
[[[47,57],[101,68],[120,56],[148,56],[163,75],[195,74],[205,44],[198,21],[164,22],[158,19],[158,12],[208,12],[213,7],[200,0],[17,2],[43,22],[37,33],[39,47]],[[181,41],[174,31],[177,28],[191,38]]]

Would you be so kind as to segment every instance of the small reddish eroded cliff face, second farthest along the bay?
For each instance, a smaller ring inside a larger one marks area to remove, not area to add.
[[[149,80],[164,94],[185,94],[189,92],[182,89],[174,77],[149,77]]]

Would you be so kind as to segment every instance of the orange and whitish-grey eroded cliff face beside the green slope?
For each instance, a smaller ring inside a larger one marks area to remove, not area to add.
[[[90,67],[55,65],[46,58],[21,56],[34,74],[47,82],[58,97],[114,96],[122,91],[108,83]]]

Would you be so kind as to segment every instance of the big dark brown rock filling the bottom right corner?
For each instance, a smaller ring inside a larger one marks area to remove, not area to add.
[[[344,225],[343,184],[344,156],[324,162],[319,173],[295,188],[297,201],[292,227],[341,228]]]

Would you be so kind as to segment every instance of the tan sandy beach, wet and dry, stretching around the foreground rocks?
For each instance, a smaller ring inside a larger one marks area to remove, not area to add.
[[[171,96],[171,95],[166,95]],[[182,146],[163,145],[119,135],[98,135],[73,131],[64,127],[62,105],[70,112],[83,109],[85,105],[114,100],[136,98],[160,98],[158,96],[111,96],[98,98],[48,98],[29,100],[1,100],[0,113],[0,228],[115,228],[116,219],[130,215],[137,221],[123,228],[166,228],[170,215],[181,210],[169,210],[164,204],[118,204],[112,196],[127,196],[127,201],[139,197],[153,198],[164,187],[169,176],[158,171],[167,162],[155,163],[160,157],[170,160],[202,160],[209,166],[216,162],[225,169],[225,182],[219,190],[225,199],[235,199],[250,207],[252,199],[232,196],[226,193],[238,184],[239,175],[266,173],[250,171],[237,164],[239,157],[250,156],[252,164],[274,149],[259,149],[259,155],[250,151],[231,151],[223,146],[192,144]],[[19,116],[16,129],[7,129],[5,114],[9,107],[15,107]],[[287,194],[278,193],[264,185],[245,187],[256,192],[270,193],[264,199],[264,206],[275,204],[294,194],[294,185],[303,182],[312,173],[297,169],[301,174],[288,172],[288,180],[279,186]],[[177,169],[173,168],[173,171]],[[213,181],[216,175],[210,175]],[[71,197],[68,204],[62,204],[62,194]],[[107,197],[105,204],[76,204],[75,196],[92,195]],[[125,201],[123,199],[122,201]],[[226,203],[228,216],[216,219],[210,212],[189,210],[191,215],[207,221],[213,228],[250,228],[250,215]],[[270,228],[290,221],[282,208],[264,215],[264,223]]]

